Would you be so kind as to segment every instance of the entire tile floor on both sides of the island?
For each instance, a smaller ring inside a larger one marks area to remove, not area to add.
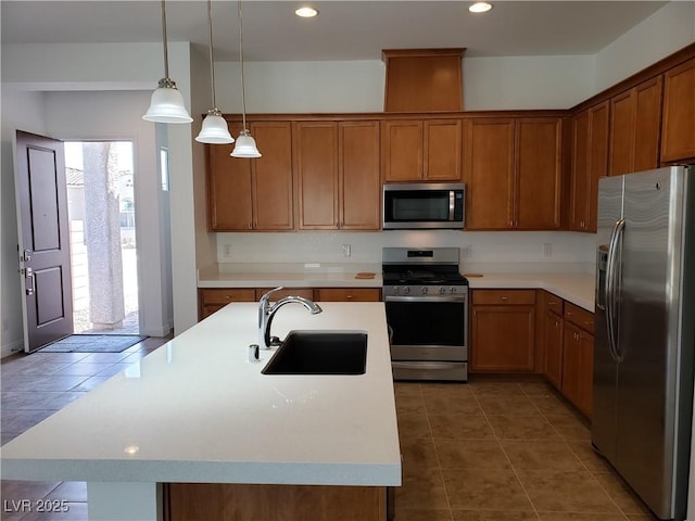
[[[2,360],[2,443],[122,371],[167,339],[123,353],[36,353]],[[396,521],[650,521],[591,449],[590,431],[543,382],[395,384],[403,486]],[[17,511],[21,499],[66,512]],[[2,481],[0,519],[83,521],[79,482]]]

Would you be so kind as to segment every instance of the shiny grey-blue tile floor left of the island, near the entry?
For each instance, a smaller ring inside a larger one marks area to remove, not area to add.
[[[2,359],[0,434],[2,444],[48,418],[71,402],[164,344],[168,338],[149,338],[122,353],[16,354]],[[1,483],[3,521],[86,521],[84,482]],[[22,500],[28,500],[23,504]],[[52,513],[36,511],[38,501],[56,500]],[[61,504],[61,501],[66,501]]]

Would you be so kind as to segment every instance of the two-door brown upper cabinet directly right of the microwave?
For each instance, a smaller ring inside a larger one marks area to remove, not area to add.
[[[464,127],[466,229],[559,229],[560,118],[470,118]]]

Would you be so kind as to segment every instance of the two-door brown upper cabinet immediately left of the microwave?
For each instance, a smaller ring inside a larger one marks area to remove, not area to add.
[[[299,228],[380,228],[379,122],[292,124]]]

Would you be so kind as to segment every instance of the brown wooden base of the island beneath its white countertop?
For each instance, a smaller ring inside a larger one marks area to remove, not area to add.
[[[164,521],[386,521],[381,486],[165,483]]]

